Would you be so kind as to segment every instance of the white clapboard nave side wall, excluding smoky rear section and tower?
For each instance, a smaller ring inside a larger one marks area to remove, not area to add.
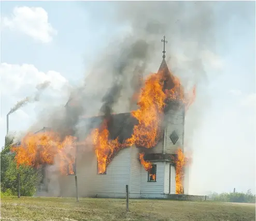
[[[79,195],[101,196],[122,194],[130,178],[130,148],[120,150],[107,166],[107,174],[97,174],[97,160],[94,153],[77,159]]]

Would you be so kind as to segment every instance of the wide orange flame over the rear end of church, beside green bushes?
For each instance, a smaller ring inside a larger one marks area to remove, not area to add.
[[[24,136],[21,145],[12,147],[11,151],[16,152],[15,159],[18,167],[21,164],[38,167],[58,161],[63,173],[72,174],[74,173],[72,164],[75,162],[73,148],[75,140],[76,137],[73,136],[66,136],[61,140],[60,136],[52,131],[29,133]]]

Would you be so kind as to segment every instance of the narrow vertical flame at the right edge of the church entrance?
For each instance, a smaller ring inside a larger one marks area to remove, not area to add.
[[[184,166],[187,164],[188,159],[184,156],[181,149],[177,152],[177,158],[175,160],[176,169],[176,194],[183,193],[183,178],[184,178]]]

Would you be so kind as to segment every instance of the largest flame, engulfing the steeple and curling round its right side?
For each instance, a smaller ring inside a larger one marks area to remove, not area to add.
[[[164,83],[172,81],[173,88],[165,89]],[[167,101],[181,101],[186,103],[183,87],[177,77],[170,74],[168,77],[163,71],[151,74],[141,90],[139,108],[132,112],[138,120],[131,138],[126,140],[127,146],[135,144],[139,147],[154,147],[161,137],[161,120],[163,109]]]

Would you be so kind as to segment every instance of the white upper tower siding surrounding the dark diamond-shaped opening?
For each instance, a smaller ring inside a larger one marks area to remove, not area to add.
[[[174,145],[170,139],[170,135],[175,131],[179,137]],[[183,149],[183,136],[184,136],[184,115],[183,110],[170,109],[167,113],[167,127],[166,127],[166,146],[165,152],[170,154],[177,153],[179,148]]]

